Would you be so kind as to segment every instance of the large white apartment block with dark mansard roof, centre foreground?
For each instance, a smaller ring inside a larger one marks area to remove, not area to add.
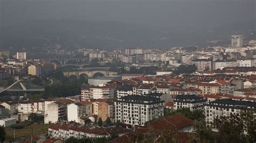
[[[164,115],[164,101],[157,97],[128,95],[118,98],[114,105],[116,121],[133,126],[144,126],[146,121]]]

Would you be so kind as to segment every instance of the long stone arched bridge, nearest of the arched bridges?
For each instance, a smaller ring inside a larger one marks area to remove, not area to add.
[[[68,77],[70,77],[71,75],[75,75],[75,76],[79,77],[80,75],[85,74],[88,77],[93,77],[97,73],[101,73],[103,75],[117,75],[117,72],[106,71],[106,70],[64,71],[63,75],[68,76]]]

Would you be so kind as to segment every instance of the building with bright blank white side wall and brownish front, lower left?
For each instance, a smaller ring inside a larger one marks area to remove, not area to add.
[[[75,121],[76,123],[83,123],[80,117],[92,115],[92,103],[82,101],[68,105],[68,121]]]

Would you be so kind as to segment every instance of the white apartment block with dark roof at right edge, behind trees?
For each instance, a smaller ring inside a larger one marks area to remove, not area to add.
[[[256,116],[256,102],[233,99],[217,99],[205,104],[206,125],[210,126],[215,118],[221,116],[240,115],[242,110],[252,110]]]

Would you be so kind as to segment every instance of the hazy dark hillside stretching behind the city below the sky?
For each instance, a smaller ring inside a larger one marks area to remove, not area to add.
[[[159,28],[160,29],[160,28]],[[41,20],[9,25],[0,32],[0,48],[18,50],[62,44],[87,48],[206,46],[207,40],[223,39],[229,43],[230,35],[241,33],[256,39],[255,21],[228,24],[212,30],[177,28],[158,31],[158,28],[118,22],[84,22],[77,20]],[[253,33],[254,31],[254,33]],[[33,49],[34,50],[34,49]]]

